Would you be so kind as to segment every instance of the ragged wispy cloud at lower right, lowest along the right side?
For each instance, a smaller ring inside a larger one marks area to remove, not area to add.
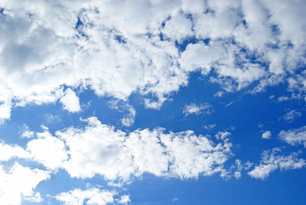
[[[262,152],[262,158],[259,165],[255,166],[248,174],[253,178],[264,179],[269,173],[276,169],[297,169],[302,168],[306,163],[305,159],[297,158],[296,152],[289,155],[279,155],[279,148],[265,150]]]

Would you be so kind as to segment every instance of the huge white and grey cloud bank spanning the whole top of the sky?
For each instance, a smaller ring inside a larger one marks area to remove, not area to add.
[[[301,0],[2,0],[0,8],[0,122],[30,102],[59,100],[77,112],[79,86],[122,100],[137,92],[158,109],[194,71],[215,73],[210,82],[225,91],[286,81],[305,97]]]

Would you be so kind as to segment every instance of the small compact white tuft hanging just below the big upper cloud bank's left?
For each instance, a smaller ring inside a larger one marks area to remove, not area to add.
[[[81,110],[78,97],[70,88],[65,90],[64,95],[60,98],[59,101],[63,104],[63,109],[66,109],[69,112],[78,112]]]

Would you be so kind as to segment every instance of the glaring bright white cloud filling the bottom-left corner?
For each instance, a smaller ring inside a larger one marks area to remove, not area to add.
[[[36,185],[47,178],[49,172],[31,169],[15,162],[8,172],[0,165],[0,201],[3,204],[20,204],[22,198],[32,202],[41,201],[39,193],[33,193]]]

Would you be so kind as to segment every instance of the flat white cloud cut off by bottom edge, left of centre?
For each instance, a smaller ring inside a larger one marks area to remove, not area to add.
[[[104,205],[107,203],[112,203],[114,201],[113,196],[115,194],[116,193],[114,191],[100,190],[95,187],[85,190],[75,188],[73,190],[69,190],[68,192],[61,192],[57,194],[55,198],[56,200],[62,201],[65,205],[82,205],[85,199],[85,204],[88,205]]]

